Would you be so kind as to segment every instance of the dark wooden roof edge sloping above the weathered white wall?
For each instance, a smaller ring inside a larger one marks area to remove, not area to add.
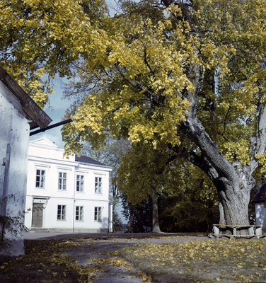
[[[33,127],[39,126],[46,128],[52,119],[45,113],[45,111],[40,108],[37,103],[30,98],[28,93],[26,93],[21,86],[6,72],[6,70],[0,66],[0,80],[6,88],[13,93],[19,102],[23,106],[23,111],[30,117],[32,122],[30,122],[30,129]]]

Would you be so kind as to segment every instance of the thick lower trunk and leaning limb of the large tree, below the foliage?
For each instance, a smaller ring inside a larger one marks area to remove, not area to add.
[[[249,225],[248,203],[255,185],[251,175],[255,166],[242,167],[240,162],[232,164],[224,158],[195,115],[187,115],[181,127],[202,152],[201,156],[190,152],[192,157],[187,159],[209,175],[219,193],[220,224]],[[231,230],[226,227],[224,232],[229,234]],[[246,235],[248,231],[240,233]]]

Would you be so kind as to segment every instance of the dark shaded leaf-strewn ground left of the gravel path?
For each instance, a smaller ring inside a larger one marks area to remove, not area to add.
[[[87,282],[94,270],[81,268],[64,253],[75,245],[75,241],[25,241],[25,255],[1,260],[0,282]]]

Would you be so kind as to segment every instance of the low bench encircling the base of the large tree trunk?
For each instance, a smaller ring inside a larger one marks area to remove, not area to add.
[[[263,235],[262,235],[262,225],[224,225],[224,224],[214,224],[213,226],[214,227],[213,227],[212,231],[214,231],[214,233],[209,233],[209,235],[213,235],[216,238],[220,238],[221,236],[226,236],[226,237],[229,237],[229,238],[232,238],[232,237],[235,237],[235,238],[243,238],[243,237],[249,237],[249,238],[257,237],[257,238],[261,238],[261,237],[263,237]],[[221,227],[231,227],[232,230],[233,230],[232,235],[221,234],[219,226],[221,226]],[[237,235],[236,234],[237,229],[244,229],[244,228],[248,229],[248,235]]]

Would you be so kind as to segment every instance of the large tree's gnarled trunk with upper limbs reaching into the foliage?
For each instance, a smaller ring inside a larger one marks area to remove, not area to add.
[[[199,51],[195,50],[195,54]],[[258,168],[257,154],[263,154],[266,148],[266,103],[258,110],[256,134],[250,137],[250,162],[241,166],[240,162],[229,162],[219,151],[218,146],[207,134],[202,122],[197,118],[197,99],[200,81],[199,65],[190,63],[187,77],[194,86],[187,91],[190,101],[186,120],[180,123],[180,130],[194,142],[200,154],[181,149],[188,161],[204,171],[212,180],[219,194],[220,223],[226,225],[249,225],[248,202],[250,191],[255,185],[252,176]],[[178,149],[178,147],[177,147]],[[229,233],[229,231],[225,231]],[[246,230],[240,232],[248,233]]]

